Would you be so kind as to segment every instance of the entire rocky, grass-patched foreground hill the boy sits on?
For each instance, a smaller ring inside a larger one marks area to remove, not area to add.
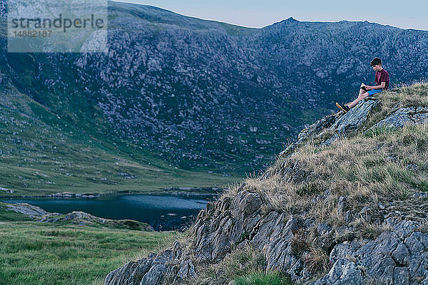
[[[428,284],[428,85],[370,99],[303,130],[263,175],[208,203],[187,238],[105,284],[234,284],[252,271]]]

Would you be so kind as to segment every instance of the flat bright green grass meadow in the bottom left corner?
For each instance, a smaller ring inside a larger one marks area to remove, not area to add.
[[[173,232],[0,222],[0,284],[103,284],[108,272],[158,252]]]

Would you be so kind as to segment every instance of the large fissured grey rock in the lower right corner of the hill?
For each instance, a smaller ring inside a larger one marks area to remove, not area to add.
[[[375,280],[381,284],[411,284],[410,280],[428,274],[428,235],[417,232],[414,226],[412,221],[397,222],[393,232],[383,232],[370,242],[337,244],[330,254],[330,261],[352,260],[363,269],[364,282]],[[329,275],[332,275],[331,271]],[[326,276],[319,281],[325,283],[315,284],[334,284],[328,283]]]

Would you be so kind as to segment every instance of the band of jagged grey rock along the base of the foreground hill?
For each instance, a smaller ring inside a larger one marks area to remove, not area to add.
[[[285,213],[263,213],[265,202],[260,195],[243,190],[233,199],[224,197],[209,203],[200,212],[192,228],[195,261],[215,263],[233,249],[251,244],[264,252],[266,270],[287,272],[293,280],[308,283],[313,274],[302,255],[296,253],[294,242],[301,229],[317,227],[320,239],[331,239],[332,268],[313,285],[371,284],[372,280],[381,284],[425,284],[421,282],[428,282],[428,234],[422,229],[422,221],[428,219],[428,201],[414,198],[409,203],[419,203],[425,212],[415,215],[411,210],[398,211],[397,204],[363,211],[382,212],[387,230],[374,240],[356,240],[351,227],[332,229],[327,224],[302,224],[299,217]],[[193,262],[176,242],[161,254],[151,254],[112,271],[105,284],[176,284],[193,275]]]

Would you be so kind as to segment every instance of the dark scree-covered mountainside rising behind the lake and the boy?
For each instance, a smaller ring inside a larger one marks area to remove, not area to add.
[[[5,1],[0,4],[5,19]],[[428,33],[287,19],[243,28],[109,2],[106,54],[6,53],[0,81],[78,132],[135,144],[188,170],[260,170],[287,139],[372,82],[424,77]]]

